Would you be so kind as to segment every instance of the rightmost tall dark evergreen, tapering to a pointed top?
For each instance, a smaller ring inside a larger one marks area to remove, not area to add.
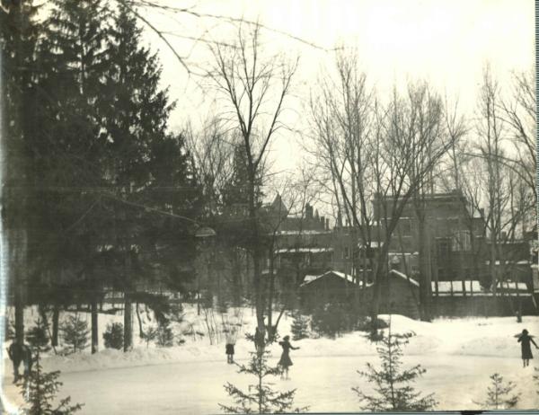
[[[159,87],[161,67],[141,45],[135,16],[119,4],[110,26],[109,73],[99,110],[107,137],[115,284],[125,299],[124,350],[132,346],[131,305],[138,284],[157,277],[180,284],[190,274],[183,261],[194,256],[194,238],[184,218],[198,210],[190,156],[182,138],[167,132],[173,105]],[[180,261],[178,252],[183,252]]]

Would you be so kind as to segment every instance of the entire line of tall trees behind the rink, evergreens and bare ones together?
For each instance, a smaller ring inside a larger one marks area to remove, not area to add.
[[[263,278],[262,269],[268,257],[272,267],[275,226],[262,201],[298,62],[266,54],[262,26],[239,22],[234,41],[207,42],[211,64],[202,75],[221,112],[200,131],[173,134],[173,102],[139,22],[163,33],[137,12],[144,3],[57,0],[39,20],[31,0],[3,2],[3,215],[21,339],[24,303],[51,305],[53,337],[61,306],[90,304],[95,351],[98,305],[113,287],[124,296],[129,349],[131,305],[149,301],[141,285],[159,280],[179,290],[193,275],[199,221],[216,229],[208,264],[226,257],[237,268],[231,276],[244,271],[258,329],[273,329],[273,270]],[[383,99],[356,55],[336,55],[336,70],[312,90],[305,147],[335,218],[352,226],[353,246],[379,247],[376,256],[351,251],[353,277],[374,281],[373,330],[389,242],[407,204],[417,216],[420,310],[429,320],[430,248],[421,236],[425,198],[436,190],[463,189],[473,211],[486,207],[496,287],[500,241],[531,229],[532,79],[515,75],[514,96],[504,98],[485,70],[478,113],[468,119],[426,82],[395,86]],[[473,131],[478,144],[466,145]],[[379,204],[378,223],[376,198],[389,201]]]

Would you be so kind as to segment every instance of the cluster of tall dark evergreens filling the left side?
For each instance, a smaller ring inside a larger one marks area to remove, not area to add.
[[[90,304],[95,351],[98,304],[114,288],[125,299],[129,349],[139,284],[179,289],[190,275],[194,164],[169,131],[173,102],[128,4],[54,1],[43,21],[37,10],[29,0],[0,13],[16,335],[26,303],[53,307],[53,337],[60,306]]]

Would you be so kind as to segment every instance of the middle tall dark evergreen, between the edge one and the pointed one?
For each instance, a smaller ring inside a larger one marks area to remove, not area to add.
[[[107,244],[102,239],[102,218],[108,212],[96,190],[104,187],[101,162],[106,137],[98,108],[108,72],[109,11],[101,0],[52,0],[50,4],[39,50],[41,93],[33,106],[40,118],[40,140],[33,151],[46,189],[36,209],[42,216],[41,246],[49,255],[39,277],[49,281],[49,289],[41,292],[52,294],[49,301],[56,308],[61,302],[91,305],[95,352],[97,305],[106,276],[95,267],[101,247]],[[62,300],[54,296],[59,290]]]

